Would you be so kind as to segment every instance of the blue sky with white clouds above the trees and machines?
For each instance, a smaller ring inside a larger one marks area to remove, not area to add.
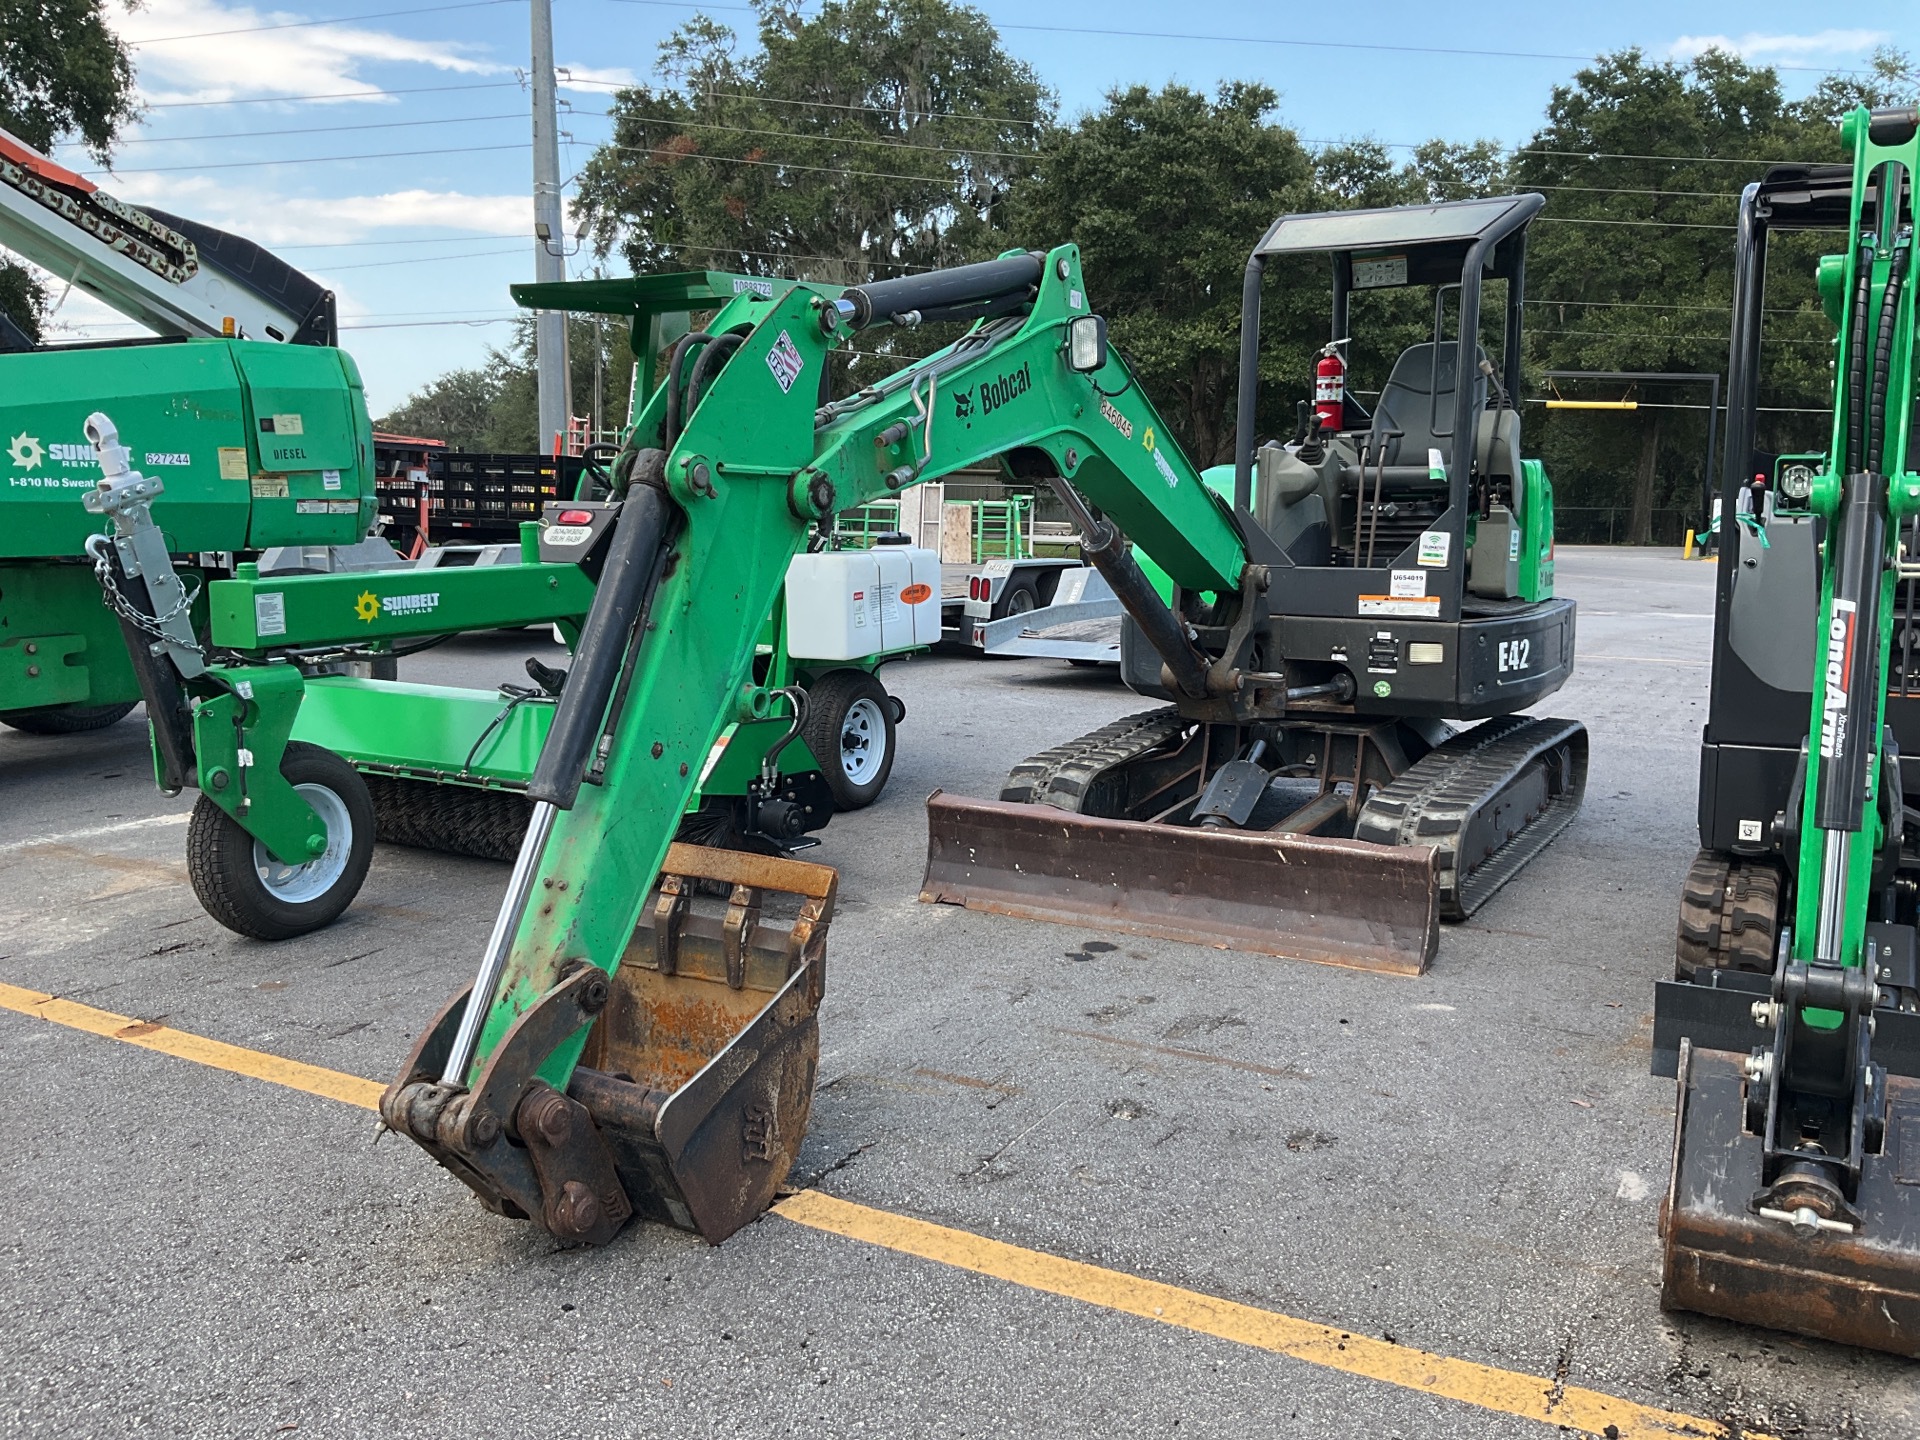
[[[1822,71],[1860,67],[1876,44],[1901,40],[1891,25],[1874,23],[1874,12],[1824,29],[1805,6],[1778,0],[1597,8],[1478,0],[1452,10],[1407,0],[1365,8],[985,0],[979,8],[1002,27],[1006,48],[1056,90],[1066,115],[1094,108],[1116,84],[1212,88],[1258,79],[1281,92],[1281,117],[1306,140],[1390,144],[1432,136],[1513,144],[1538,123],[1576,58],[1630,44],[1657,56],[1720,44],[1780,65],[1788,92],[1799,94]],[[607,138],[612,86],[649,77],[659,42],[697,10],[751,36],[743,0],[555,0],[555,58],[570,108],[561,117],[570,136],[563,175]],[[1348,29],[1331,29],[1327,15],[1348,19]],[[1471,33],[1463,15],[1476,21]],[[340,294],[342,344],[367,376],[376,415],[505,344],[507,284],[532,278],[524,0],[324,0],[298,10],[146,0],[113,23],[134,44],[146,121],[127,134],[111,175],[96,173],[75,148],[60,159],[123,200],[246,234],[330,284]],[[1526,54],[1275,42],[1283,38]],[[572,263],[584,271],[591,261],[586,253]],[[65,301],[56,326],[67,336],[134,332],[84,296]]]

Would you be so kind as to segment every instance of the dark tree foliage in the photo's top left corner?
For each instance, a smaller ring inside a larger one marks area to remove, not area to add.
[[[79,136],[108,159],[138,108],[132,58],[108,29],[106,4],[0,0],[0,129],[35,150]]]

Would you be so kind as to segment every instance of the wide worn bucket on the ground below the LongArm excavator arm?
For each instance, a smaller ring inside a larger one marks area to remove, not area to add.
[[[1753,1210],[1761,1139],[1745,1133],[1743,1058],[1680,1043],[1661,1306],[1920,1357],[1920,1081],[1887,1077],[1859,1227],[1805,1235]]]

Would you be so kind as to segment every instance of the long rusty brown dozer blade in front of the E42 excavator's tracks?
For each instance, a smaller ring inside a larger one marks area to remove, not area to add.
[[[1425,845],[1154,826],[927,797],[922,900],[1417,975],[1440,943]]]

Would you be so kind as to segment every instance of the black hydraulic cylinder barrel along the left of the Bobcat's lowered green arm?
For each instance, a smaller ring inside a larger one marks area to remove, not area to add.
[[[620,660],[630,643],[641,643],[643,601],[672,518],[672,501],[645,486],[632,490],[620,507],[607,563],[593,588],[593,605],[588,607],[588,620],[580,628],[566,689],[561,691],[553,728],[526,787],[534,801],[568,810],[580,795],[580,781],[599,741]]]

